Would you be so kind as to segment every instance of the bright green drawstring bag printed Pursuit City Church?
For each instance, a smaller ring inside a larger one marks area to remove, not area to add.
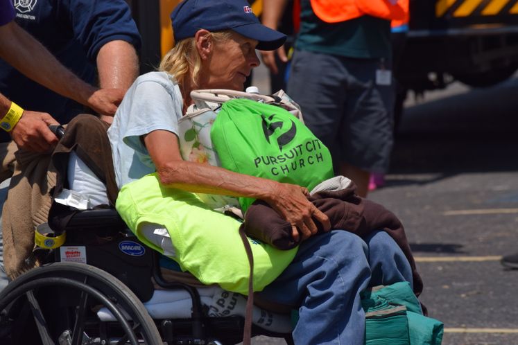
[[[211,128],[221,166],[241,174],[298,184],[310,191],[333,177],[331,154],[308,127],[282,107],[228,100]],[[245,212],[254,200],[240,198]]]

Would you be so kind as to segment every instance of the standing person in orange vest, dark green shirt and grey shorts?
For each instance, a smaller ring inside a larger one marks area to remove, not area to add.
[[[286,1],[264,0],[266,26],[277,28]],[[392,2],[340,0],[347,10],[337,12],[336,3],[300,0],[287,91],[301,106],[305,123],[331,150],[337,175],[356,182],[362,197],[368,194],[370,174],[386,172],[390,163],[390,19],[408,15],[399,1]]]

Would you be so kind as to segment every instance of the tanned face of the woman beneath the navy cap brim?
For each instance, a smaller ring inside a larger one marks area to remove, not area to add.
[[[255,53],[257,41],[232,31],[230,39],[212,42],[210,57],[202,62],[207,68],[202,68],[200,87],[242,91],[252,69],[261,63]]]

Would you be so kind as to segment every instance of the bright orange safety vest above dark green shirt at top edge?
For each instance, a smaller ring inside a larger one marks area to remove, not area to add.
[[[388,20],[408,20],[408,0],[311,0],[313,12],[327,23],[363,15]]]

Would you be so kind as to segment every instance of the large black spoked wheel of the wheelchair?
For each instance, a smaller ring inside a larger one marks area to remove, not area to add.
[[[116,321],[100,321],[105,307]],[[0,294],[1,344],[162,345],[135,294],[111,274],[80,263],[52,263],[19,276]],[[3,326],[6,327],[6,326]]]

